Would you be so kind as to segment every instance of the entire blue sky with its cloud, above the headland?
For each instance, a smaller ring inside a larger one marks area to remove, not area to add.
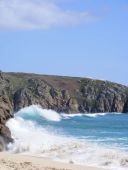
[[[128,85],[128,1],[0,0],[0,69]]]

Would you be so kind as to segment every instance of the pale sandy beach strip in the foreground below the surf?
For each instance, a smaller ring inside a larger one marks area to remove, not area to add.
[[[104,170],[19,154],[0,153],[0,170]],[[107,170],[107,169],[106,169]]]

